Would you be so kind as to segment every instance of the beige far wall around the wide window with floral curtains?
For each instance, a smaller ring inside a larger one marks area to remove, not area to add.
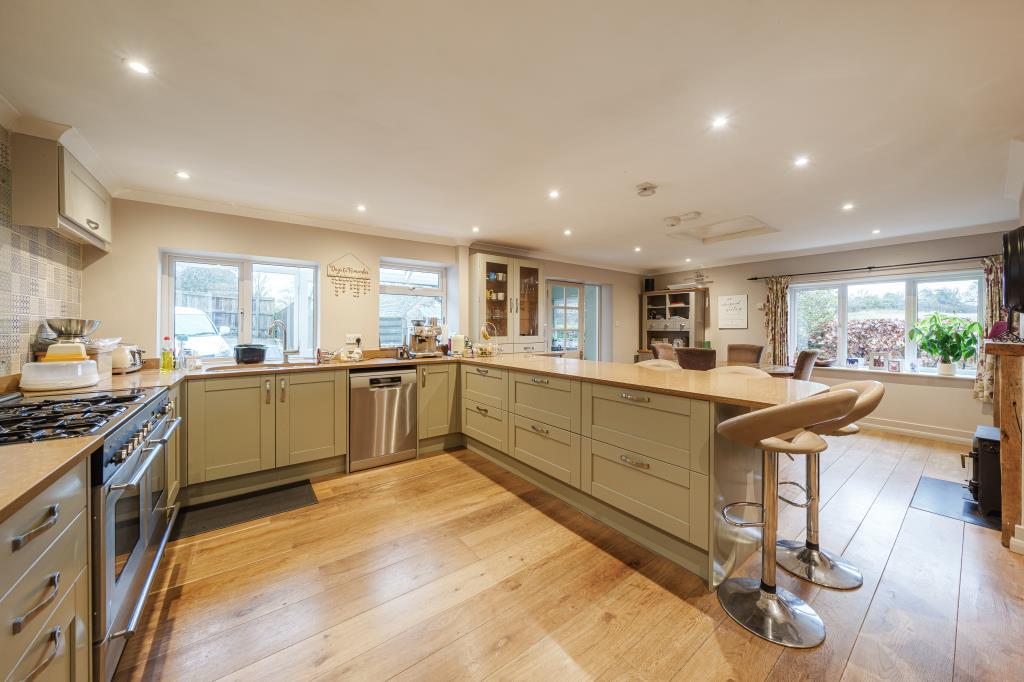
[[[765,286],[763,282],[750,282],[748,278],[989,255],[1001,252],[1001,235],[1000,231],[708,268],[705,272],[713,284],[709,287],[707,338],[713,347],[720,349],[719,352],[724,352],[724,348],[730,343],[765,343],[764,312],[759,309],[764,303]],[[965,261],[942,267],[968,269],[976,266],[977,263],[973,261]],[[831,276],[868,274],[863,272]],[[802,280],[815,281],[825,276],[813,275]],[[686,279],[686,272],[662,274],[655,278],[655,286],[663,288]],[[730,294],[748,295],[749,322],[745,330],[718,329],[718,296]],[[990,407],[974,399],[973,384],[964,379],[889,376],[849,370],[816,371],[815,378],[828,384],[864,378],[881,379],[886,384],[886,398],[866,421],[891,430],[963,441],[971,437],[978,424],[991,423]],[[941,398],[937,398],[937,391],[941,391]]]

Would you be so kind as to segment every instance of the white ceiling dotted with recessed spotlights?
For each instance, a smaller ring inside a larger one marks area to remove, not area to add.
[[[0,93],[119,196],[653,271],[1016,220],[1022,27],[1020,0],[4,0]],[[781,231],[668,237],[693,210]]]

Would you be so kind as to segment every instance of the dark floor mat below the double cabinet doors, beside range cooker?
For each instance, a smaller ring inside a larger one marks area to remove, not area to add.
[[[178,522],[171,531],[171,540],[190,538],[208,530],[301,509],[316,502],[316,494],[308,480],[246,493],[225,500],[204,502],[185,507],[178,513]]]

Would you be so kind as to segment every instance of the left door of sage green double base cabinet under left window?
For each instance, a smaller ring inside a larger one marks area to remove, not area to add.
[[[275,379],[258,375],[186,382],[189,485],[276,465]]]

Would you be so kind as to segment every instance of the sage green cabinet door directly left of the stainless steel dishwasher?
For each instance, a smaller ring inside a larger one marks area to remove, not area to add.
[[[348,452],[348,372],[279,375],[274,391],[276,466]]]

